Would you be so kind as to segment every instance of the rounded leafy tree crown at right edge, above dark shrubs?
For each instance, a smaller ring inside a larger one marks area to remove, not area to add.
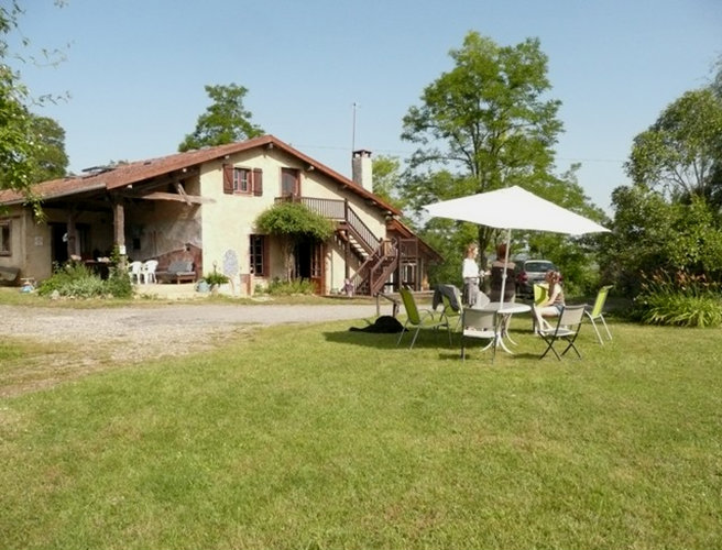
[[[672,200],[704,197],[722,206],[722,97],[712,87],[688,91],[634,139],[626,172]]]

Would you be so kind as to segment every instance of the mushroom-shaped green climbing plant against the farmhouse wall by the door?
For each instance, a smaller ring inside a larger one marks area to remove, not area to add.
[[[281,238],[286,280],[293,275],[293,253],[304,239],[325,241],[333,234],[330,220],[313,212],[300,202],[277,202],[255,220],[256,227]]]

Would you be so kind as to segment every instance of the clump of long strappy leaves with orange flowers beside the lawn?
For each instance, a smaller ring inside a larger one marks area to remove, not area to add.
[[[646,324],[720,327],[720,289],[703,275],[692,276],[683,271],[674,276],[656,273],[644,277],[642,292],[634,299],[632,317]]]

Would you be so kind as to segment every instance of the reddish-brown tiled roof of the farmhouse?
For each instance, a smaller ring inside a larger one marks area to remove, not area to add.
[[[198,166],[210,161],[223,158],[227,155],[249,151],[259,146],[277,147],[278,150],[303,161],[308,166],[313,166],[314,169],[325,174],[329,178],[335,179],[348,190],[361,195],[365,199],[374,202],[379,208],[387,210],[394,215],[401,213],[398,209],[389,205],[372,193],[369,193],[360,185],[354,184],[338,172],[332,170],[328,166],[303,154],[300,151],[293,148],[291,145],[282,142],[273,135],[263,135],[243,142],[229,143],[228,145],[218,145],[216,147],[188,151],[186,153],[176,153],[160,158],[119,164],[107,169],[99,169],[91,175],[43,182],[42,184],[34,185],[32,190],[41,198],[41,200],[47,200],[103,188],[108,190],[117,189],[119,187],[138,184],[176,170]],[[24,201],[25,197],[21,193],[0,190],[0,205],[22,204]]]

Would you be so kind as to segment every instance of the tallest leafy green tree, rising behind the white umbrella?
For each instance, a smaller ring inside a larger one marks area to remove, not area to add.
[[[560,102],[544,99],[550,84],[538,40],[502,47],[470,32],[450,56],[455,67],[425,88],[422,105],[403,120],[402,139],[419,145],[403,185],[416,212],[436,200],[548,180],[562,129]],[[433,182],[440,167],[455,174],[449,187]],[[495,234],[478,228],[482,252]]]

